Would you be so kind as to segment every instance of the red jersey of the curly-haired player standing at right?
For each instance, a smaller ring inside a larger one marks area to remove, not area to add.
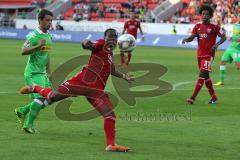
[[[196,24],[192,30],[192,34],[197,35],[198,38],[198,57],[215,56],[212,50],[213,45],[216,43],[217,36],[221,37],[224,32],[220,27],[215,24]]]

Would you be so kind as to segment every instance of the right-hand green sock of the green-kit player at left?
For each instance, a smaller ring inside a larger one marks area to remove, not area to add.
[[[26,116],[23,128],[29,128],[33,126],[34,120],[37,118],[39,111],[42,109],[42,105],[33,101],[30,106],[30,111]]]

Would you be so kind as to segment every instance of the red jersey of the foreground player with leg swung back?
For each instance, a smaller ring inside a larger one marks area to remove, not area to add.
[[[101,83],[105,86],[111,73],[113,53],[106,49],[104,39],[99,39],[94,44],[95,49],[92,51],[88,64],[72,80],[81,81],[87,85]]]

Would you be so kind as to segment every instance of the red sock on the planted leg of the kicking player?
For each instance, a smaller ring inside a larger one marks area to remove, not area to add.
[[[115,117],[104,117],[104,130],[108,145],[115,145]]]

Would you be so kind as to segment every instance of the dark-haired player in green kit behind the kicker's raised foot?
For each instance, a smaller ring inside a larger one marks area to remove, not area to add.
[[[22,47],[22,55],[29,55],[24,71],[25,84],[50,86],[49,50],[52,45],[52,36],[48,32],[53,20],[52,12],[41,10],[38,14],[39,26],[26,36]],[[15,113],[27,133],[35,133],[33,122],[41,109],[48,105],[47,100],[39,94],[30,94],[33,101],[26,106],[15,109]]]

